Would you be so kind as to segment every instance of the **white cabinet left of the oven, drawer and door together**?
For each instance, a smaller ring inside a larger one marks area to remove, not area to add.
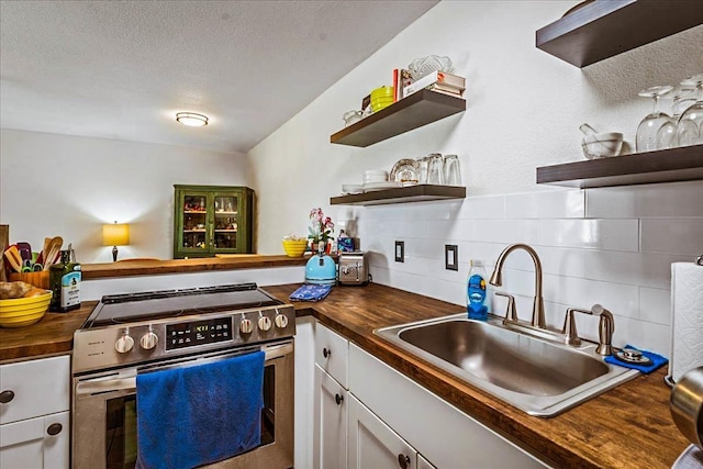
[[[70,466],[68,356],[0,366],[0,468]]]

